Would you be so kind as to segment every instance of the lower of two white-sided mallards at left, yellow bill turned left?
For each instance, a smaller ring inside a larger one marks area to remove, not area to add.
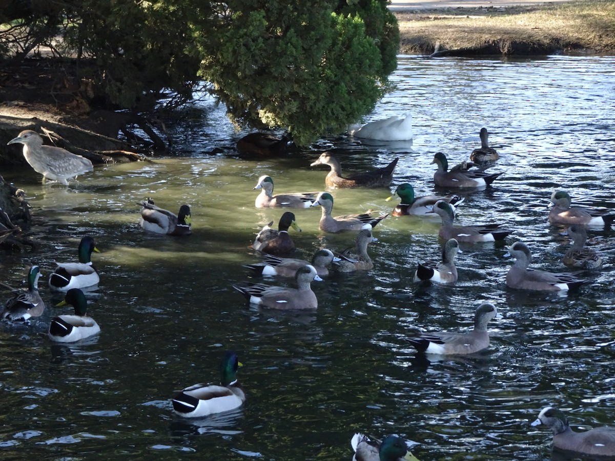
[[[57,307],[70,304],[74,307],[74,315],[58,315],[49,325],[49,339],[55,342],[75,342],[93,336],[100,332],[100,326],[87,316],[87,299],[79,288],[71,288],[66,292],[64,301]]]

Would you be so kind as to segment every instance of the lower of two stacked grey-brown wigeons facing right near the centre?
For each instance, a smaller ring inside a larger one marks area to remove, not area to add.
[[[307,265],[297,270],[295,282],[297,288],[253,283],[248,286],[233,286],[243,294],[251,304],[259,304],[271,309],[316,309],[318,300],[312,291],[311,282],[322,281],[314,266]]]

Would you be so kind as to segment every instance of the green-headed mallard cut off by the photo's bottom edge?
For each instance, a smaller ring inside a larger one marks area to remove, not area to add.
[[[410,452],[416,442],[406,441],[397,435],[389,435],[380,441],[371,440],[362,433],[355,433],[350,441],[354,450],[353,461],[419,461]]]

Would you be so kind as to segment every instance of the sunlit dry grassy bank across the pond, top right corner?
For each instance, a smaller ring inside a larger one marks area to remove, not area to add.
[[[400,53],[451,55],[615,54],[615,1],[396,12]]]

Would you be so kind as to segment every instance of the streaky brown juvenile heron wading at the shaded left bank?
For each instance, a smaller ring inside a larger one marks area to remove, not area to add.
[[[94,169],[85,157],[55,146],[43,146],[41,135],[32,130],[24,130],[8,144],[23,144],[23,156],[34,171],[65,186],[68,186],[67,179]]]

